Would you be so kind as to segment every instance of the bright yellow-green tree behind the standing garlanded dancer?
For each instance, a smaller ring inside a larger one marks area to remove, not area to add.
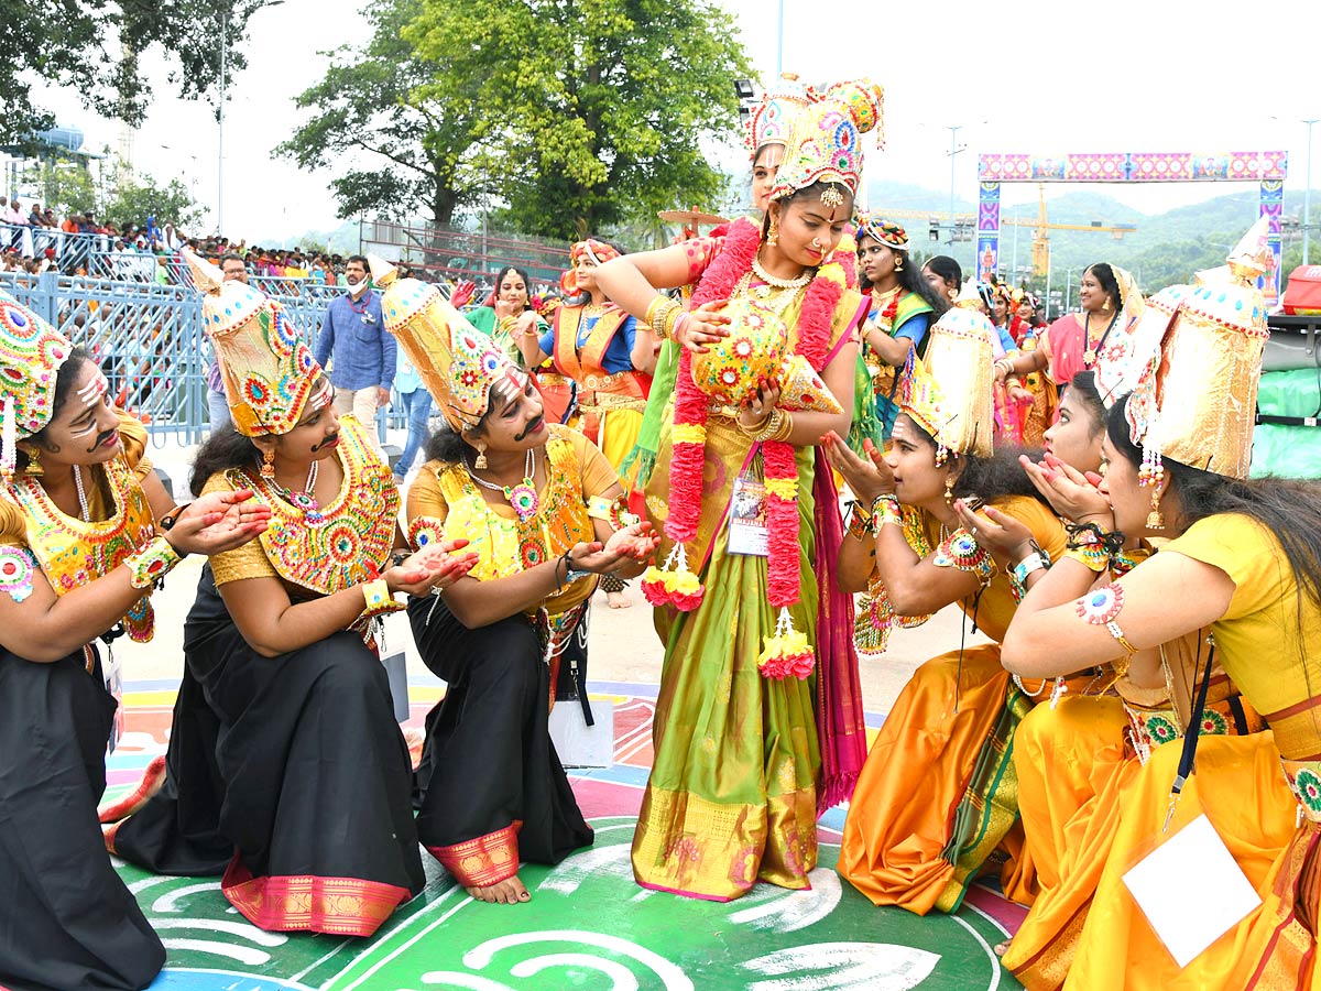
[[[427,98],[476,83],[491,178],[530,233],[583,237],[723,192],[701,144],[733,129],[752,70],[708,0],[424,0],[403,36],[443,69]]]

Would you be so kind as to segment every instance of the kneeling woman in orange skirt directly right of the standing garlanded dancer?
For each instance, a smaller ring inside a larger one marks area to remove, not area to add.
[[[1063,527],[1015,461],[992,451],[991,338],[972,309],[931,329],[926,362],[900,379],[893,445],[864,460],[831,439],[831,462],[859,499],[840,551],[840,584],[868,589],[884,633],[893,617],[958,604],[991,643],[959,646],[914,671],[896,699],[853,791],[839,872],[877,905],[954,912],[992,855],[1008,897],[1030,901],[1009,754],[1044,684],[1024,688],[1000,666],[1017,597],[1011,573],[960,525],[963,505],[993,506],[1058,558]],[[869,510],[865,507],[871,507]],[[921,622],[922,620],[917,620]]]

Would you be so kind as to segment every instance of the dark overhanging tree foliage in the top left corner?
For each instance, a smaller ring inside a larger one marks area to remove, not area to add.
[[[221,37],[229,42],[227,73],[244,67],[240,44],[247,20],[269,0],[57,0],[5,4],[0,17],[0,140],[21,144],[53,119],[33,102],[32,83],[75,89],[107,118],[140,124],[151,90],[141,55],[159,45],[170,57],[169,81],[197,98],[217,85]]]

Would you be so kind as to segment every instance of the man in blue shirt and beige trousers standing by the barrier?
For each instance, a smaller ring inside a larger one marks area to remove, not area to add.
[[[386,330],[380,296],[367,288],[367,259],[351,255],[343,274],[349,292],[330,300],[313,351],[330,371],[336,412],[355,414],[379,448],[376,410],[390,402],[398,346]]]

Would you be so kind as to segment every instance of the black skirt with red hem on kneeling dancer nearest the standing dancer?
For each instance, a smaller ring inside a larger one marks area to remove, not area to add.
[[[532,625],[514,616],[470,630],[433,597],[411,600],[408,620],[423,662],[446,682],[417,769],[423,846],[452,871],[441,851],[507,835],[514,823],[515,869],[519,859],[557,864],[589,846],[592,827],[551,743],[550,669]]]

